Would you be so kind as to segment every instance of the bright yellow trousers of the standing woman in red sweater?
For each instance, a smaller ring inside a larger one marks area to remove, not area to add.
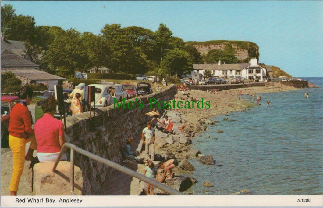
[[[9,134],[9,146],[14,159],[14,167],[10,182],[10,191],[18,191],[19,180],[24,171],[26,143],[31,142],[30,149],[37,150],[37,142],[33,130],[32,136],[28,139],[18,138]]]

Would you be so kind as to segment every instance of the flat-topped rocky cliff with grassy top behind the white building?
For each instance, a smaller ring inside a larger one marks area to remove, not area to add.
[[[259,47],[257,44],[249,41],[238,40],[210,40],[210,41],[188,41],[189,45],[193,45],[201,55],[207,54],[213,49],[217,50],[233,50],[234,55],[241,61],[247,63],[251,58],[259,59]]]

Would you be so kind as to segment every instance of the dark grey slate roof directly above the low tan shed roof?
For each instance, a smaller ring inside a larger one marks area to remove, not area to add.
[[[39,68],[35,64],[11,51],[1,50],[1,68]]]

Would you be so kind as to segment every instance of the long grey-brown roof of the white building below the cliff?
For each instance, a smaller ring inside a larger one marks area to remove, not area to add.
[[[250,63],[241,64],[193,64],[194,69],[198,70],[242,70],[249,66]]]

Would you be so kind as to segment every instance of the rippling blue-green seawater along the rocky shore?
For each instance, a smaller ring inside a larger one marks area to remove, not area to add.
[[[194,137],[192,148],[212,155],[216,163],[190,159],[196,169],[190,176],[198,182],[188,192],[228,195],[248,189],[253,195],[323,194],[323,77],[304,79],[319,88],[261,93],[261,105],[211,119],[220,123]],[[214,187],[204,187],[204,181]]]

